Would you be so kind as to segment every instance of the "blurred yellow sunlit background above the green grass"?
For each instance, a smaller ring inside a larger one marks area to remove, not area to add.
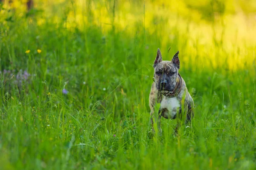
[[[10,6],[20,10],[21,16],[25,2],[14,0]],[[195,56],[192,64],[201,62],[204,67],[226,64],[232,70],[255,65],[255,0],[35,0],[34,3],[36,8],[44,9],[38,25],[49,18],[58,23],[67,16],[66,27],[70,29],[94,25],[107,33],[114,26],[116,31],[131,36],[145,26],[146,36],[157,32],[162,49],[169,48],[168,43],[176,34],[184,37],[187,42],[181,50]]]

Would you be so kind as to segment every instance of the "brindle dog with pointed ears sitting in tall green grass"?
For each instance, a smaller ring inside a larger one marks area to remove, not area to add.
[[[163,61],[160,49],[157,49],[157,57],[154,60],[154,82],[151,85],[149,94],[149,106],[151,115],[152,130],[155,133],[153,117],[157,121],[157,128],[160,136],[161,117],[176,119],[177,126],[175,134],[184,121],[187,125],[194,116],[194,101],[190,96],[184,79],[179,74],[180,60],[179,51],[173,56],[172,61]],[[155,106],[160,103],[158,114],[154,114]],[[182,111],[183,110],[183,111]],[[186,117],[183,116],[186,114]],[[157,119],[158,118],[158,119]]]

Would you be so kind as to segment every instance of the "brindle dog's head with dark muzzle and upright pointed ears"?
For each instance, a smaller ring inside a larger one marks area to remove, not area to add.
[[[173,91],[178,79],[180,69],[179,51],[172,61],[163,61],[160,49],[157,49],[157,57],[154,61],[154,80],[159,91]]]

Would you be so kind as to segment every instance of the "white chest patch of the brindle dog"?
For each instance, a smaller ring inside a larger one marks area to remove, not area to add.
[[[162,116],[173,119],[177,113],[177,109],[180,107],[180,102],[177,97],[167,98],[163,96],[160,106],[162,109],[167,110],[162,113]]]

